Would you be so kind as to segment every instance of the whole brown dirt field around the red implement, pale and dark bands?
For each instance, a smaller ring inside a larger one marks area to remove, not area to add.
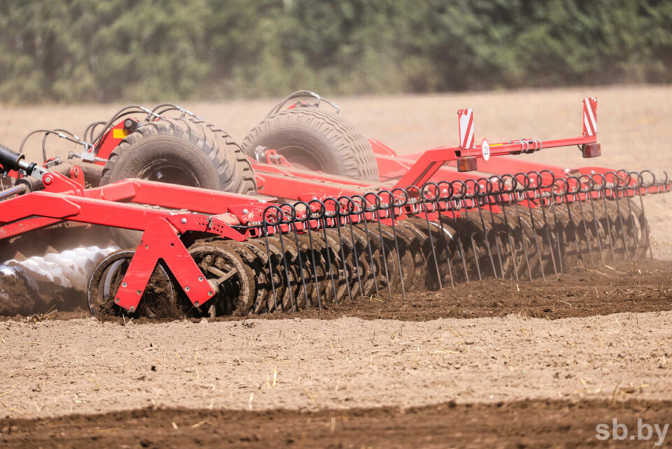
[[[456,142],[462,107],[474,109],[477,140],[579,135],[587,95],[598,97],[603,157],[561,148],[526,158],[672,170],[669,86],[334,100],[365,134],[406,153]],[[186,106],[242,140],[273,104]],[[81,132],[118,106],[5,107],[0,140],[16,148],[37,127]],[[0,446],[652,447],[655,434],[601,441],[596,425],[672,424],[671,202],[645,200],[661,261],[559,281],[472,282],[244,320],[6,319]]]

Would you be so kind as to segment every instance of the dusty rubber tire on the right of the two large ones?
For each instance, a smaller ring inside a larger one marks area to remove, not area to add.
[[[366,137],[342,117],[317,108],[288,109],[265,118],[242,144],[251,158],[258,146],[272,148],[290,163],[310,170],[379,180],[378,164]]]

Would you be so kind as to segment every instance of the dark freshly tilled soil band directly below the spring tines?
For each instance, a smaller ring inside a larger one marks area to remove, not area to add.
[[[484,279],[442,291],[407,293],[405,298],[397,293],[390,297],[383,289],[380,298],[344,301],[338,307],[302,311],[297,316],[426,321],[517,314],[559,319],[655,310],[672,310],[672,263],[646,260],[575,269],[559,277],[549,274],[547,282]]]

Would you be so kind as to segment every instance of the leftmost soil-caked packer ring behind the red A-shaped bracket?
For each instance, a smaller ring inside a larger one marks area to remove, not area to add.
[[[135,251],[122,249],[98,263],[89,279],[87,292],[91,315],[99,318],[130,315],[150,319],[179,318],[186,315],[186,308],[179,305],[172,279],[162,263],[154,268],[137,310],[127,312],[115,304],[115,295],[134,254]]]

